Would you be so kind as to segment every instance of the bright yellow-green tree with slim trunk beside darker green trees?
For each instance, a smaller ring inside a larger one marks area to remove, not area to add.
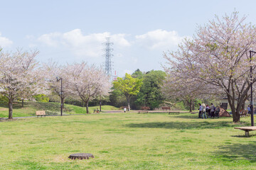
[[[118,89],[127,98],[128,111],[130,111],[130,98],[139,94],[142,87],[142,79],[133,78],[130,74],[125,74],[124,79],[117,77],[113,82],[114,89]]]

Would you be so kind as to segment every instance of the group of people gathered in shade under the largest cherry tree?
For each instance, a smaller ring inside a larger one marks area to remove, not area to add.
[[[199,103],[199,113],[198,113],[198,118],[207,118],[208,116],[210,116],[210,118],[214,118],[215,117],[215,111],[216,108],[213,105],[213,103],[210,103],[210,106],[205,105],[204,103],[201,104]]]

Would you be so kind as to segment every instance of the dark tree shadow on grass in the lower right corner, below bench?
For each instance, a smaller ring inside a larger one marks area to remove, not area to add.
[[[256,162],[256,142],[247,144],[232,144],[219,146],[218,150],[213,152],[214,157],[221,159],[223,162],[245,161]]]

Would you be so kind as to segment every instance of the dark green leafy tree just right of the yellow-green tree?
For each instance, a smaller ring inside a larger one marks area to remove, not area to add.
[[[136,103],[139,106],[149,106],[151,109],[158,108],[164,103],[164,96],[161,93],[161,85],[166,73],[160,70],[146,72],[143,75],[143,85],[137,96]]]

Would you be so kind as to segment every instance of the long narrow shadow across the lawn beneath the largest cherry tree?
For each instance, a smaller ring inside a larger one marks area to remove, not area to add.
[[[234,125],[230,121],[221,122],[154,122],[154,123],[131,123],[125,125],[129,128],[166,128],[166,129],[220,129],[233,128]]]

